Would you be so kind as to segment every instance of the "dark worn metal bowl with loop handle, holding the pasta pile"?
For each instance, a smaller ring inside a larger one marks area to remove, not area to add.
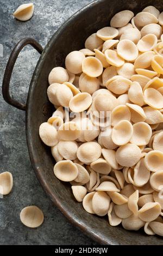
[[[51,151],[39,137],[39,126],[51,116],[53,108],[47,98],[48,75],[54,66],[64,66],[66,55],[74,50],[84,48],[84,42],[99,28],[109,26],[111,17],[118,11],[129,9],[134,13],[147,5],[163,9],[161,0],[102,0],[87,5],[73,15],[52,36],[42,52],[42,47],[30,38],[22,39],[11,53],[3,80],[3,97],[11,105],[26,110],[26,135],[30,160],[36,176],[44,190],[62,213],[87,235],[102,244],[108,245],[162,245],[157,236],[147,236],[143,231],[127,231],[120,227],[110,227],[107,217],[88,214],[77,203],[71,192],[71,186],[55,178],[53,167],[55,161]],[[12,99],[9,94],[9,81],[18,53],[30,44],[41,54],[29,87],[27,105]]]

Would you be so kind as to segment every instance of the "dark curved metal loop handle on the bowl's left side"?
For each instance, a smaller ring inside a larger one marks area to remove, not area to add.
[[[10,86],[12,70],[14,69],[14,65],[18,57],[18,54],[21,52],[22,48],[26,45],[32,45],[40,54],[43,51],[42,46],[38,42],[36,42],[33,38],[21,39],[11,52],[7,66],[5,68],[3,83],[2,83],[2,95],[4,100],[10,105],[21,110],[26,110],[26,105],[21,102],[18,102],[17,100],[11,97],[9,93],[9,86]]]

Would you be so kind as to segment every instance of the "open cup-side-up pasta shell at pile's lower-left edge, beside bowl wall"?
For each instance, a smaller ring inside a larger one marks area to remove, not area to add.
[[[54,175],[62,181],[72,181],[78,176],[78,168],[71,160],[62,160],[55,164]]]

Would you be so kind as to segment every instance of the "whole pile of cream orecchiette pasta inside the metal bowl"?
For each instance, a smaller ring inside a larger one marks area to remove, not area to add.
[[[163,12],[153,6],[136,16],[120,11],[69,53],[66,69],[49,74],[56,111],[39,134],[57,162],[55,176],[71,183],[87,212],[163,236],[161,26]]]

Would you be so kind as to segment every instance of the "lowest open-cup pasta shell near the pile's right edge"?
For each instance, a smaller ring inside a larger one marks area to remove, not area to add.
[[[161,212],[161,206],[159,203],[146,203],[138,212],[138,216],[142,221],[151,222],[154,221]]]

